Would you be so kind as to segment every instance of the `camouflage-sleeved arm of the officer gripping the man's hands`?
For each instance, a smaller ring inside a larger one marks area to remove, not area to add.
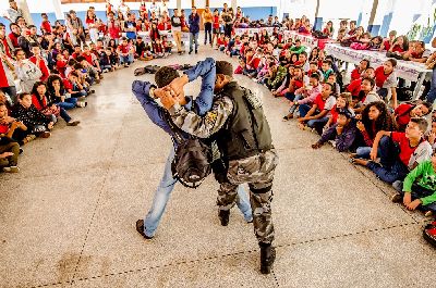
[[[227,97],[216,100],[204,117],[180,105],[168,108],[168,111],[174,124],[182,130],[199,138],[208,138],[226,124],[233,111],[233,102]]]

